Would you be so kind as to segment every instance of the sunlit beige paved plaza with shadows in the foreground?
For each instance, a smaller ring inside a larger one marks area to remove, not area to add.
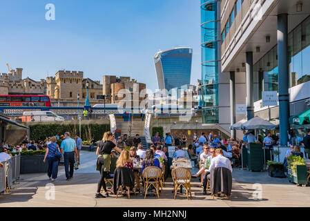
[[[81,166],[75,171],[72,180],[66,181],[64,166],[59,166],[59,176],[55,184],[55,200],[47,200],[46,195],[50,184],[46,174],[21,175],[23,180],[13,185],[10,195],[0,195],[0,204],[3,207],[40,207],[40,206],[310,206],[310,187],[290,184],[286,178],[269,177],[267,172],[249,172],[247,170],[233,170],[233,191],[231,198],[211,199],[211,195],[202,195],[202,188],[198,187],[199,180],[192,180],[192,200],[185,195],[177,195],[173,200],[173,182],[166,180],[166,186],[160,198],[140,193],[127,197],[95,199],[95,191],[99,173],[95,171],[96,155],[94,152],[81,152]],[[260,191],[260,189],[262,191]],[[260,195],[261,193],[261,195]],[[259,200],[254,198],[261,197]]]

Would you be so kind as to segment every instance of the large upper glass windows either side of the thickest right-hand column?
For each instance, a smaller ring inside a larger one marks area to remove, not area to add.
[[[310,80],[310,17],[289,33],[289,87]],[[262,91],[278,91],[278,48],[274,46],[254,66],[254,102]]]

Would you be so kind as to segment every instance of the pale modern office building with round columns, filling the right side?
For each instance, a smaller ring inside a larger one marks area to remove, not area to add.
[[[211,9],[206,5],[213,2],[217,5],[213,10],[217,10],[217,13],[214,12],[217,17],[211,19],[220,23],[220,26],[213,26],[220,27],[220,33],[217,32],[217,38],[213,39],[220,44],[217,53],[220,57],[214,59],[220,60],[220,65],[214,70],[217,70],[218,78],[229,77],[226,81],[230,91],[227,93],[229,102],[224,97],[229,111],[219,111],[218,118],[222,119],[230,113],[231,124],[253,116],[278,122],[281,144],[287,144],[289,117],[309,109],[305,101],[310,97],[310,1],[205,2],[202,1],[202,13]],[[204,37],[204,24],[202,30]],[[203,66],[204,61],[202,59]],[[262,106],[262,91],[278,91],[278,106]],[[217,93],[220,93],[220,88]],[[217,97],[220,108],[222,96]],[[246,105],[246,114],[236,114],[237,104]],[[235,136],[233,131],[232,135]],[[238,133],[237,137],[241,135]]]

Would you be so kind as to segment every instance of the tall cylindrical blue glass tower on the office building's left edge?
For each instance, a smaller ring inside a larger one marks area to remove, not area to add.
[[[218,123],[218,1],[201,0],[202,111],[204,124]]]

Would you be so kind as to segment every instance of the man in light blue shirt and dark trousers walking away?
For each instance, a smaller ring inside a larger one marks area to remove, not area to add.
[[[77,146],[75,140],[70,137],[70,133],[66,132],[64,134],[64,140],[61,142],[60,147],[61,154],[64,153],[64,164],[67,180],[73,177],[73,169],[75,166],[75,155],[77,160],[79,160],[79,155],[77,154]],[[70,171],[69,171],[70,169]]]

